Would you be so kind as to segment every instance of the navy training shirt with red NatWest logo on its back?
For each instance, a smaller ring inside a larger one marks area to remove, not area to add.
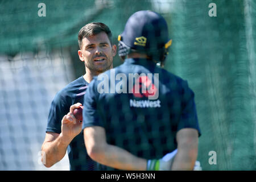
[[[83,119],[82,129],[104,127],[109,144],[144,159],[175,150],[180,129],[201,135],[187,81],[146,59],[126,59],[94,77],[84,96]]]

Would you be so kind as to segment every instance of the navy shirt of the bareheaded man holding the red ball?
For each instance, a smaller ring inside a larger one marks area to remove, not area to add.
[[[61,120],[69,112],[71,105],[84,103],[88,82],[81,76],[61,89],[54,97],[49,110],[46,132],[61,133]],[[97,164],[88,156],[82,133],[77,135],[68,146],[71,170],[96,170]]]

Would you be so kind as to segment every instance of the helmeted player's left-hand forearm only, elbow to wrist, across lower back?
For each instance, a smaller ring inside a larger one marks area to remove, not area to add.
[[[126,150],[110,144],[106,144],[100,152],[95,153],[92,157],[98,163],[122,170],[143,171],[147,166],[146,159],[138,158]]]

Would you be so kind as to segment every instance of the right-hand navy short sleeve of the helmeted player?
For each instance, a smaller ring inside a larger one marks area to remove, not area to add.
[[[177,127],[177,130],[183,128],[193,128],[196,129],[201,135],[198,119],[197,119],[197,112],[196,112],[196,104],[195,104],[195,94],[193,91],[188,87],[187,81],[183,82],[183,97],[181,101],[181,117]]]

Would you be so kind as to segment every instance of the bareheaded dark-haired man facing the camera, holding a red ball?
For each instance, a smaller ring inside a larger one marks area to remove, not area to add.
[[[84,102],[84,94],[93,76],[113,68],[117,47],[112,44],[112,32],[104,23],[86,24],[79,31],[78,40],[78,54],[84,61],[86,73],[61,89],[52,101],[42,144],[42,151],[46,154],[42,156],[42,162],[51,167],[68,150],[71,170],[97,170],[98,164],[86,152],[82,123],[76,120],[73,110]]]

